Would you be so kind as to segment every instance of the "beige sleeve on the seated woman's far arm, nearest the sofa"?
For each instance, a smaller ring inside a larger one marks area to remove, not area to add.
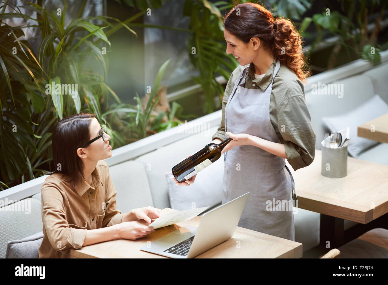
[[[116,190],[114,189],[113,181],[111,176],[109,175],[109,166],[106,166],[106,209],[105,216],[102,220],[102,227],[113,226],[120,224],[124,214],[120,212],[120,210],[116,209]]]

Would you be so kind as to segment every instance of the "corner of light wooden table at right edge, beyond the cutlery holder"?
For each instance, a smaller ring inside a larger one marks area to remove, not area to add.
[[[371,131],[372,126],[374,126],[374,131]],[[376,142],[388,143],[388,114],[358,126],[357,136],[369,138]]]

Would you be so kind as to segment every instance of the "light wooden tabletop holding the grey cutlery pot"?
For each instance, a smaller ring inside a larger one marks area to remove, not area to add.
[[[348,175],[329,178],[320,174],[321,154],[305,168],[289,166],[298,207],[362,224],[388,212],[388,165],[348,157]]]

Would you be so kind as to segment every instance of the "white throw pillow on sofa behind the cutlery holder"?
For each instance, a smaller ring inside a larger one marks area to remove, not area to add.
[[[388,104],[376,94],[356,109],[340,116],[323,117],[322,121],[332,133],[350,127],[348,152],[353,157],[358,157],[360,152],[378,142],[357,136],[357,127],[386,113],[388,113]]]

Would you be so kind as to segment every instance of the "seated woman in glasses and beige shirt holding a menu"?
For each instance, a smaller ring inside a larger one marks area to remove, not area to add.
[[[154,230],[153,207],[122,214],[116,209],[109,167],[111,137],[92,114],[59,121],[52,134],[55,171],[42,185],[43,241],[39,258],[69,258],[70,249],[107,240],[136,240]]]

